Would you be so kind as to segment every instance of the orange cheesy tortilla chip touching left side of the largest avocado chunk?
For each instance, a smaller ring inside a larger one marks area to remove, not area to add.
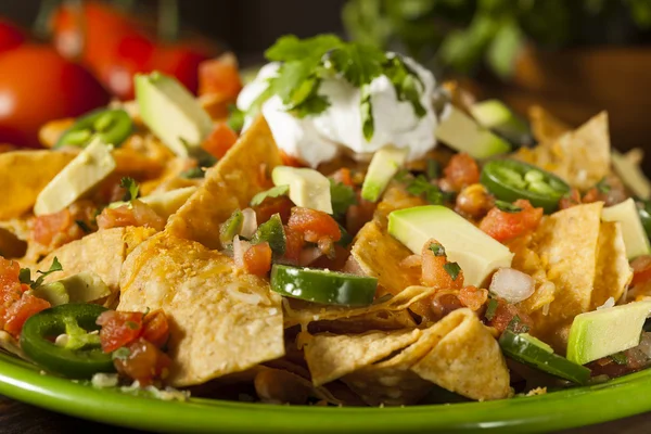
[[[411,256],[411,251],[375,220],[361,228],[350,253],[363,272],[378,278],[378,283],[392,294],[420,284],[420,268],[400,266],[407,256]]]

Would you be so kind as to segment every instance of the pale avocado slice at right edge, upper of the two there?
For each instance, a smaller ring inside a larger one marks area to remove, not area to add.
[[[640,220],[637,205],[633,197],[613,206],[603,208],[601,219],[604,221],[620,221],[622,234],[626,246],[626,257],[634,259],[641,255],[651,253],[649,238]]]

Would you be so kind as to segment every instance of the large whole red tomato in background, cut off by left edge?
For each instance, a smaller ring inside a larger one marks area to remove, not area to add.
[[[47,46],[5,52],[0,72],[0,142],[38,146],[38,130],[48,120],[108,103],[108,94],[88,71]]]

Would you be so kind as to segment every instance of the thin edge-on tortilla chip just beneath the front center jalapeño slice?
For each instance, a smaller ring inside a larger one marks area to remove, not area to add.
[[[285,317],[284,327],[302,324],[307,327],[310,322],[365,317],[373,312],[405,310],[419,299],[433,295],[437,290],[426,286],[409,286],[399,294],[394,295],[383,303],[376,303],[365,307],[348,306],[324,306],[318,304],[305,304],[301,309],[293,309],[289,303],[283,303]]]

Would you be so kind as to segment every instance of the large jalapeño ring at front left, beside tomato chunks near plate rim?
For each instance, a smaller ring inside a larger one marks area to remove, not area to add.
[[[67,304],[36,314],[25,321],[21,347],[37,365],[73,379],[88,379],[98,372],[114,372],[111,354],[105,354],[94,334],[72,335],[69,345],[54,339],[63,333],[99,330],[95,321],[106,310],[99,305]],[[81,330],[81,329],[82,330]]]

